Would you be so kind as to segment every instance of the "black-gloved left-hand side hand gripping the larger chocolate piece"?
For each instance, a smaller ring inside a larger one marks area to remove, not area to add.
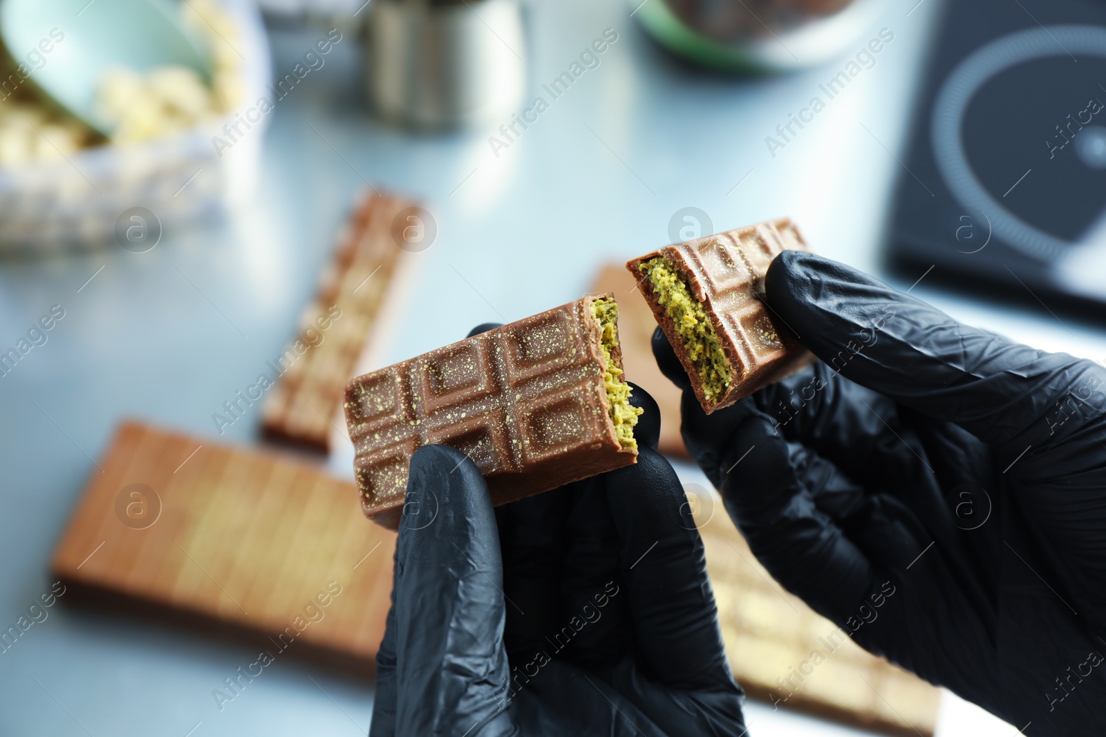
[[[372,737],[744,733],[660,413],[632,401],[635,465],[495,509],[463,453],[415,453]]]

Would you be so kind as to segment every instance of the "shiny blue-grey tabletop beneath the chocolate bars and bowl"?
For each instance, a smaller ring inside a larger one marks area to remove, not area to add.
[[[474,324],[577,297],[599,263],[668,243],[685,207],[706,211],[716,230],[790,214],[821,253],[883,273],[901,172],[893,151],[904,145],[936,6],[888,3],[856,46],[880,28],[894,42],[775,156],[764,137],[843,61],[752,81],[702,74],[660,53],[617,0],[538,3],[526,51],[535,87],[604,29],[618,41],[495,157],[487,131],[413,135],[375,120],[361,52],[343,44],[274,114],[259,194],[225,222],[170,229],[144,254],[0,263],[6,348],[52,305],[65,309],[49,341],[0,379],[0,627],[49,590],[50,552],[122,418],[218,435],[211,414],[290,337],[366,181],[422,198],[438,224],[390,346],[396,360]],[[273,29],[276,70],[320,34]],[[1001,308],[925,281],[914,294],[1043,348],[1106,357],[1106,331],[1074,317],[1062,325],[1027,294]],[[248,420],[221,440],[258,444],[258,418]],[[351,455],[334,454],[335,473],[351,475]],[[0,735],[367,730],[367,680],[295,660],[220,712],[212,689],[254,657],[246,645],[63,599],[0,653]],[[750,708],[761,723],[752,734],[848,734]],[[941,734],[964,728],[942,717]]]

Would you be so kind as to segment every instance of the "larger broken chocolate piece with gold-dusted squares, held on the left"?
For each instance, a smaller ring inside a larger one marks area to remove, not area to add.
[[[468,454],[494,504],[637,462],[617,305],[587,296],[354,379],[346,424],[365,515],[397,529],[410,456]]]

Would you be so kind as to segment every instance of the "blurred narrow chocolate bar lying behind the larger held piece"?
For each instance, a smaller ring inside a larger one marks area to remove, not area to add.
[[[374,368],[395,323],[403,283],[418,256],[397,243],[397,218],[410,201],[371,192],[354,206],[319,292],[300,318],[300,333],[276,359],[276,378],[262,404],[265,436],[328,452],[342,435],[342,391]],[[343,438],[344,440],[344,438]]]

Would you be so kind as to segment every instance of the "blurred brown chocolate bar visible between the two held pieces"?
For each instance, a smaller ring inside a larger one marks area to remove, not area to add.
[[[666,455],[688,457],[680,435],[680,390],[668,380],[653,357],[653,331],[657,320],[649,305],[636,294],[639,285],[626,273],[623,262],[604,264],[592,282],[592,294],[613,293],[618,302],[618,341],[623,369],[660,408],[660,440],[657,450]]]

